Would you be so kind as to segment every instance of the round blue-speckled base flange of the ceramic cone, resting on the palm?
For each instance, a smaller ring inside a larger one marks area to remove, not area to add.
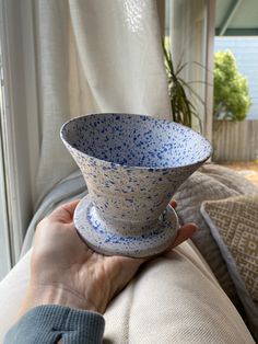
[[[155,227],[138,236],[121,236],[97,217],[90,195],[81,199],[74,211],[74,225],[81,238],[94,251],[105,255],[144,257],[159,254],[174,241],[179,228],[178,217],[168,205]]]

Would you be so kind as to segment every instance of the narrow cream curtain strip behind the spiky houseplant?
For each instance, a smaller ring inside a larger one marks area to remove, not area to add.
[[[192,88],[191,96],[204,133],[204,101],[207,81],[207,21],[206,0],[169,0],[171,1],[171,44],[174,66],[185,65],[180,76]],[[194,128],[200,130],[198,121]]]

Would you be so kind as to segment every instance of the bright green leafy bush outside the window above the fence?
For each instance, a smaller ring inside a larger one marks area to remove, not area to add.
[[[231,50],[214,58],[214,118],[243,121],[250,108],[248,82],[241,74]]]

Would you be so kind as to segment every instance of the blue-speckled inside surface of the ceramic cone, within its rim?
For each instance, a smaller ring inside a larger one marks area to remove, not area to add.
[[[62,139],[91,157],[139,168],[176,168],[207,160],[211,145],[196,131],[143,115],[93,114],[61,129]]]

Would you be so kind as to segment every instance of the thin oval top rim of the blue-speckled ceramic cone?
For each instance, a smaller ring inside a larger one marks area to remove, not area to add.
[[[90,156],[81,150],[79,150],[78,148],[74,148],[72,147],[72,145],[70,145],[63,137],[63,130],[64,130],[64,127],[69,125],[69,123],[71,122],[74,122],[77,119],[81,119],[81,118],[85,118],[85,117],[89,117],[89,116],[95,116],[95,115],[126,115],[126,116],[138,116],[138,117],[149,117],[149,118],[153,118],[155,121],[161,121],[161,122],[164,122],[164,123],[173,123],[173,125],[175,125],[176,127],[183,127],[184,129],[187,129],[188,131],[192,131],[195,135],[199,136],[203,141],[207,142],[207,147],[209,147],[208,149],[208,152],[207,154],[204,156],[203,159],[200,159],[200,160],[197,160],[195,161],[194,163],[189,163],[189,164],[183,164],[183,165],[178,165],[178,167],[157,167],[157,168],[154,168],[154,167],[137,167],[137,165],[133,165],[133,167],[130,167],[130,165],[127,165],[127,164],[120,164],[120,163],[116,163],[116,162],[110,162],[110,161],[107,161],[107,160],[103,160],[103,159],[99,159],[99,158],[96,158],[96,157],[93,157],[93,156]],[[190,168],[190,167],[195,167],[197,164],[202,164],[204,163],[212,154],[213,152],[213,148],[212,148],[212,145],[211,142],[204,137],[202,136],[201,134],[197,133],[196,130],[194,130],[192,128],[189,128],[185,125],[181,125],[179,123],[176,123],[176,122],[173,122],[173,121],[169,121],[169,119],[165,119],[165,118],[157,118],[157,117],[153,117],[151,115],[146,115],[146,114],[134,114],[134,113],[118,113],[118,112],[104,112],[104,113],[101,113],[101,112],[96,112],[96,113],[89,113],[89,114],[84,114],[84,115],[79,115],[79,116],[75,116],[73,118],[70,118],[69,121],[64,122],[60,128],[60,138],[62,140],[62,142],[64,144],[64,146],[68,146],[70,147],[72,150],[75,150],[78,151],[80,154],[86,157],[86,158],[92,158],[96,161],[98,161],[101,164],[106,164],[108,167],[113,167],[114,169],[118,169],[118,168],[122,168],[122,169],[126,169],[126,170],[153,170],[153,171],[163,171],[163,170],[172,170],[172,169],[183,169],[183,168]]]

